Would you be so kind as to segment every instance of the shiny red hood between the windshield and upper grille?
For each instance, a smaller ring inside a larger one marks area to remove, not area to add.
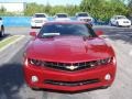
[[[28,47],[28,56],[43,61],[81,62],[111,56],[110,46],[102,38],[84,40],[81,36],[35,38]]]

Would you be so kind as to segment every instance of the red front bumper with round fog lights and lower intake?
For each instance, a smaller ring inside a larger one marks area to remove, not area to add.
[[[107,74],[110,74],[110,80],[105,79]],[[73,92],[110,86],[114,80],[114,75],[116,66],[113,64],[78,72],[63,72],[52,68],[24,66],[25,81],[31,88],[44,88]],[[31,80],[32,76],[36,76],[38,81],[33,82]]]

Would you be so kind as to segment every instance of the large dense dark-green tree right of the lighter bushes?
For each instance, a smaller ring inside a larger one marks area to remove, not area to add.
[[[80,10],[101,20],[108,20],[114,14],[128,13],[128,8],[123,0],[82,0]]]

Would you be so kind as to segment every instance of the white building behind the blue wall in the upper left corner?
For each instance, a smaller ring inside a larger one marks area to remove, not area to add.
[[[0,9],[4,9],[7,12],[23,14],[25,8],[25,2],[0,2]]]

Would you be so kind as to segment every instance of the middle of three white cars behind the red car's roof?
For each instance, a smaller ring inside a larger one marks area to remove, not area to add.
[[[69,21],[69,16],[67,13],[56,13],[55,21]]]

